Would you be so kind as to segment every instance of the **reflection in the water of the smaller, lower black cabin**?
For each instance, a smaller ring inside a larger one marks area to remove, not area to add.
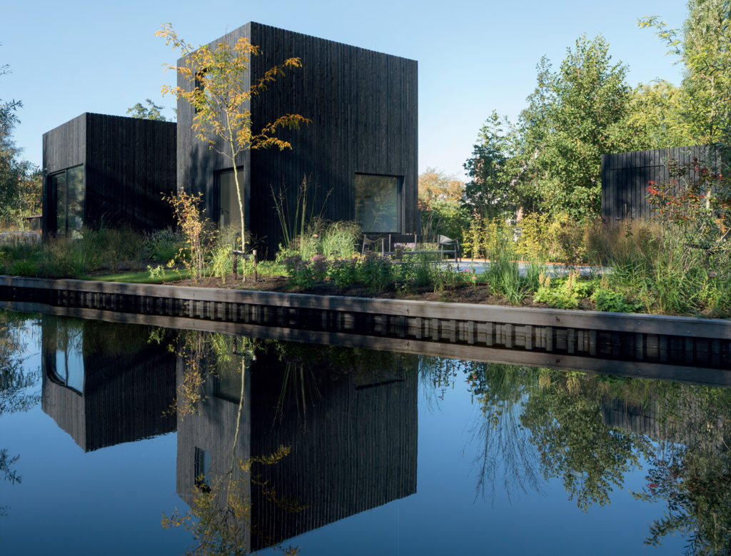
[[[44,316],[41,330],[42,410],[85,452],[175,430],[175,356],[147,328]]]

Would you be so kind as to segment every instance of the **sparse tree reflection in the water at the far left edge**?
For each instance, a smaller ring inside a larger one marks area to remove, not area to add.
[[[28,411],[40,400],[40,395],[28,389],[38,383],[39,370],[29,372],[23,366],[22,352],[26,348],[21,336],[28,318],[0,312],[0,415]],[[0,449],[0,476],[10,484],[20,484],[21,477],[13,465],[20,458]],[[0,517],[7,514],[8,506],[0,506]]]

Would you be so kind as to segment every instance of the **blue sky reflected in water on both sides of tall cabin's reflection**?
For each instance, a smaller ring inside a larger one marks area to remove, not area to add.
[[[32,369],[39,367],[39,338],[29,335],[26,352],[34,355],[26,364]],[[31,389],[39,392],[40,382]],[[301,545],[303,556],[683,552],[680,537],[664,538],[659,550],[643,546],[649,525],[665,509],[627,492],[642,490],[645,471],[628,473],[610,506],[592,506],[588,514],[568,500],[560,479],[543,481],[542,495],[521,492],[509,500],[498,473],[495,497],[488,485],[482,498],[474,463],[482,448],[474,432],[480,408],[471,403],[460,373],[443,400],[430,390],[420,385],[416,494],[285,544]],[[187,509],[175,493],[176,440],[169,434],[85,454],[40,405],[0,415],[0,449],[20,455],[15,469],[23,480],[0,481],[0,506],[10,505],[0,518],[0,552],[183,553],[188,534],[160,526],[163,511]]]

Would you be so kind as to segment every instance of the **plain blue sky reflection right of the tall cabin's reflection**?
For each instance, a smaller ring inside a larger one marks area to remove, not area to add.
[[[290,539],[302,555],[683,553],[678,536],[664,538],[659,549],[643,545],[666,509],[628,492],[642,489],[643,470],[626,474],[609,506],[591,506],[586,514],[568,500],[561,479],[543,481],[543,495],[520,492],[509,500],[498,473],[495,498],[491,485],[482,498],[473,463],[482,447],[473,435],[480,408],[471,405],[464,383],[447,389],[439,407],[424,391],[420,386],[417,493]]]

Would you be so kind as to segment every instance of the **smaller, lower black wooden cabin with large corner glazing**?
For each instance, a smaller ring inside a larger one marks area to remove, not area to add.
[[[173,226],[175,123],[84,113],[43,134],[42,230]]]

